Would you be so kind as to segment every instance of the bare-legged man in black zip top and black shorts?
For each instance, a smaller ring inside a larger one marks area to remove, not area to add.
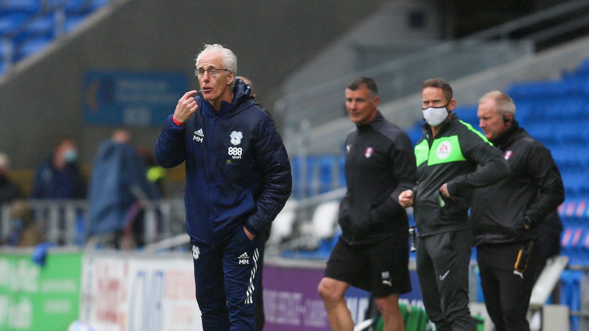
[[[408,220],[399,194],[415,185],[409,137],[376,109],[375,82],[357,78],[346,88],[346,108],[356,130],[346,138],[348,192],[340,204],[342,235],[330,254],[319,293],[334,331],[352,331],[343,293],[369,290],[385,331],[403,331],[400,293],[411,291]]]

